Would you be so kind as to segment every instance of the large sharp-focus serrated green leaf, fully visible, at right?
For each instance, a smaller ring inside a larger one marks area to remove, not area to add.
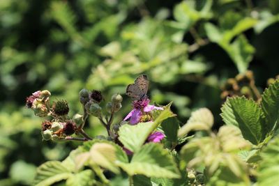
[[[227,125],[236,125],[241,130],[244,139],[252,144],[262,141],[264,125],[262,109],[253,101],[244,97],[228,98],[223,104],[222,118]]]

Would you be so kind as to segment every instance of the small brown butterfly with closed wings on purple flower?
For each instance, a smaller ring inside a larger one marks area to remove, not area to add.
[[[128,95],[132,100],[140,100],[145,98],[147,95],[147,90],[149,86],[149,81],[146,75],[140,75],[135,79],[134,84],[129,84],[126,88],[126,95]]]

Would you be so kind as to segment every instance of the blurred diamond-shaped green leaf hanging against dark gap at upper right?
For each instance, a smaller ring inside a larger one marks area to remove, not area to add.
[[[252,55],[255,53],[255,48],[250,45],[246,37],[243,35],[238,36],[232,45],[225,50],[236,64],[239,72],[246,72],[250,61],[252,61]]]

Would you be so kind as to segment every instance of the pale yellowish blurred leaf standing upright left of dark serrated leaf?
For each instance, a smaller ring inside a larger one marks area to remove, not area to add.
[[[210,130],[213,123],[213,114],[209,109],[198,109],[191,114],[187,123],[179,129],[178,135],[179,137],[182,137],[188,134],[191,130]]]

